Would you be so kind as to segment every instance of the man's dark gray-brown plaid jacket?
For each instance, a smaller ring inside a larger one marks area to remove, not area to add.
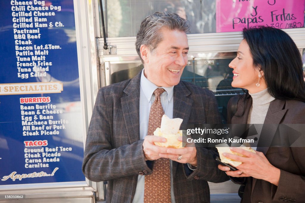
[[[152,169],[144,159],[139,137],[139,73],[130,80],[102,87],[97,95],[88,129],[83,173],[92,181],[108,180],[107,202],[132,202],[139,175]],[[211,91],[180,82],[174,87],[173,118],[189,124],[220,123],[215,97]],[[197,148],[197,169],[186,172],[186,164],[173,161],[175,201],[210,202],[207,181],[224,182],[226,174],[217,168],[211,149]]]

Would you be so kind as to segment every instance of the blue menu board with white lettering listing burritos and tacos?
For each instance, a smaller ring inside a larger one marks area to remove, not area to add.
[[[84,181],[74,2],[0,7],[0,188]]]

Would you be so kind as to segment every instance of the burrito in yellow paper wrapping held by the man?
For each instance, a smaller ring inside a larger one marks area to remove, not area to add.
[[[155,142],[160,147],[182,148],[182,142],[178,141],[178,137],[182,136],[180,125],[183,119],[170,119],[165,114],[162,116],[161,127],[157,128],[153,134],[155,136],[165,137],[166,142]]]

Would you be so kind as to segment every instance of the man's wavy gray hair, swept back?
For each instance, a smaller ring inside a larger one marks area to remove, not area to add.
[[[191,29],[189,21],[181,18],[176,13],[155,12],[147,16],[141,23],[140,30],[137,34],[137,41],[135,42],[135,47],[142,63],[143,59],[140,53],[141,45],[148,46],[149,51],[152,52],[163,39],[160,32],[160,29],[163,27],[185,33],[188,33]]]

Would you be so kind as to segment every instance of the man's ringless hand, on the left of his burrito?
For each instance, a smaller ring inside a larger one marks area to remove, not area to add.
[[[156,146],[154,142],[166,142],[166,138],[155,135],[145,136],[144,142],[142,144],[145,161],[156,160],[161,158],[159,155],[160,153],[167,153],[168,148]]]

